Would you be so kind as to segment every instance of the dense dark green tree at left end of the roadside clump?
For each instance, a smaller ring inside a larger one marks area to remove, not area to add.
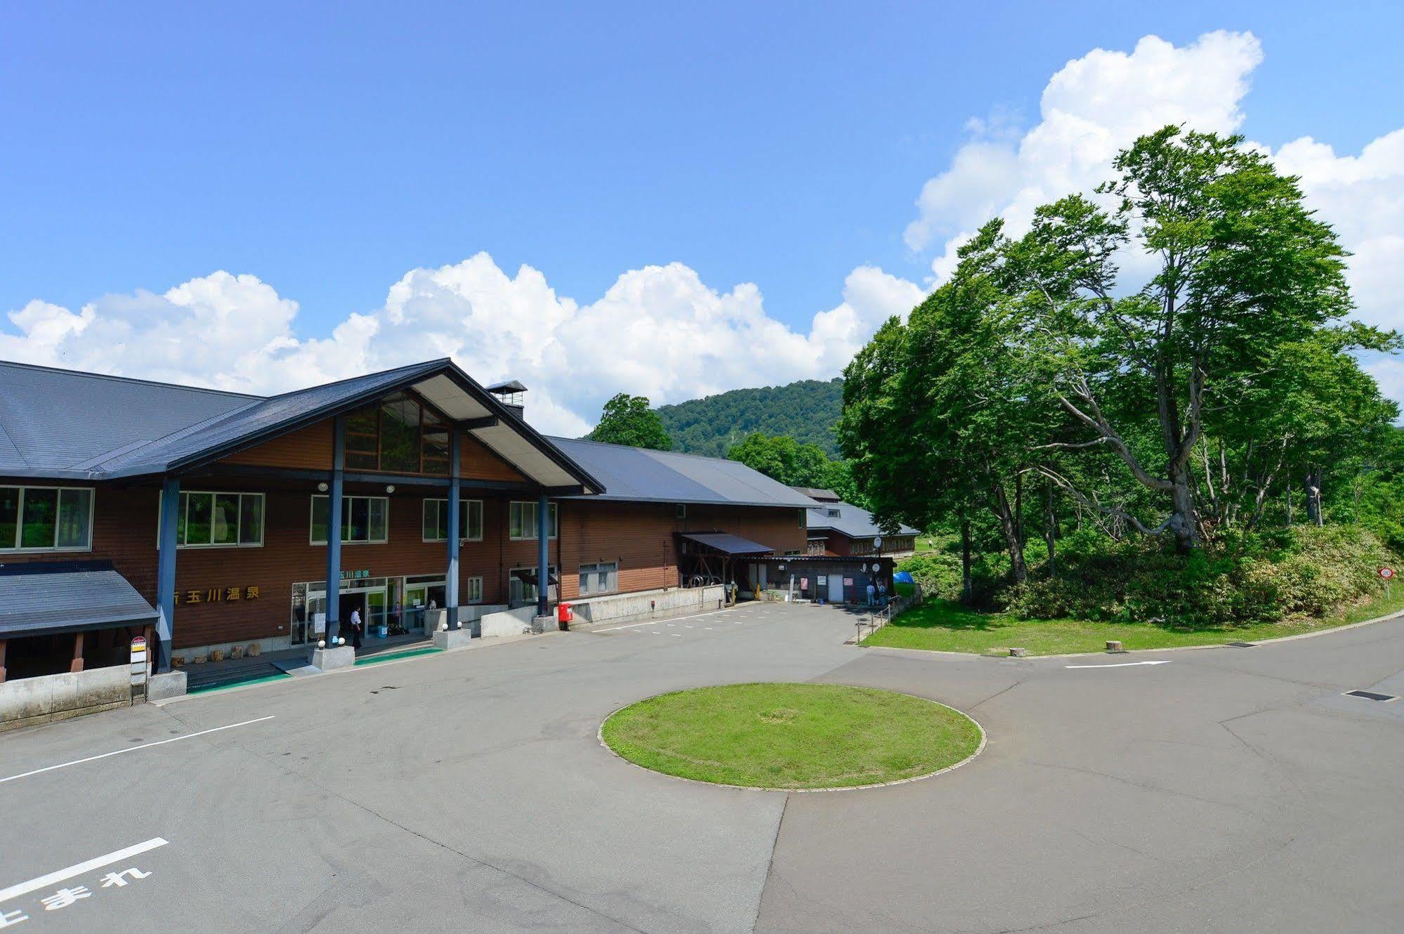
[[[1021,500],[1057,421],[1032,355],[1025,303],[1001,291],[1001,225],[986,225],[913,312],[893,319],[844,374],[840,444],[882,521],[929,528],[988,510],[1024,580]],[[967,537],[967,524],[962,522]]]

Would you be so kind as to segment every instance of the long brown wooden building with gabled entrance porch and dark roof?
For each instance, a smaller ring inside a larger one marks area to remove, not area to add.
[[[543,437],[524,395],[449,360],[271,397],[0,362],[0,681],[125,664],[142,633],[156,671],[334,643],[352,612],[366,639],[519,632],[804,552],[807,496]]]

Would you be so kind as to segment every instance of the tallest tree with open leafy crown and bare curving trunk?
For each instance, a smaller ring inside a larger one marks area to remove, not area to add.
[[[1039,365],[1081,428],[1059,447],[1112,451],[1161,499],[1163,518],[1143,521],[1047,475],[1189,551],[1205,531],[1195,451],[1216,428],[1230,433],[1220,413],[1238,396],[1272,395],[1292,378],[1275,365],[1282,348],[1318,340],[1349,312],[1345,253],[1297,180],[1238,136],[1167,126],[1113,164],[1118,177],[1099,192],[1116,205],[1071,195],[1039,208],[1004,247],[1004,288],[1033,309]],[[1337,334],[1342,351],[1387,341],[1358,327]]]

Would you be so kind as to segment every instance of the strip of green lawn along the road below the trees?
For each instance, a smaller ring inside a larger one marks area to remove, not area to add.
[[[1004,614],[983,614],[960,604],[931,600],[899,615],[863,639],[863,645],[934,652],[1005,655],[1021,646],[1029,655],[1101,652],[1108,639],[1120,639],[1126,649],[1172,649],[1178,646],[1259,642],[1303,632],[1331,629],[1404,610],[1404,586],[1389,598],[1327,619],[1252,624],[1245,626],[1165,626],[1150,622],[1090,622],[1085,619],[1015,619]]]

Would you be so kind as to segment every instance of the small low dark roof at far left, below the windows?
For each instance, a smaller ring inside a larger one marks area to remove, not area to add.
[[[152,604],[104,562],[0,566],[0,639],[154,622]]]

